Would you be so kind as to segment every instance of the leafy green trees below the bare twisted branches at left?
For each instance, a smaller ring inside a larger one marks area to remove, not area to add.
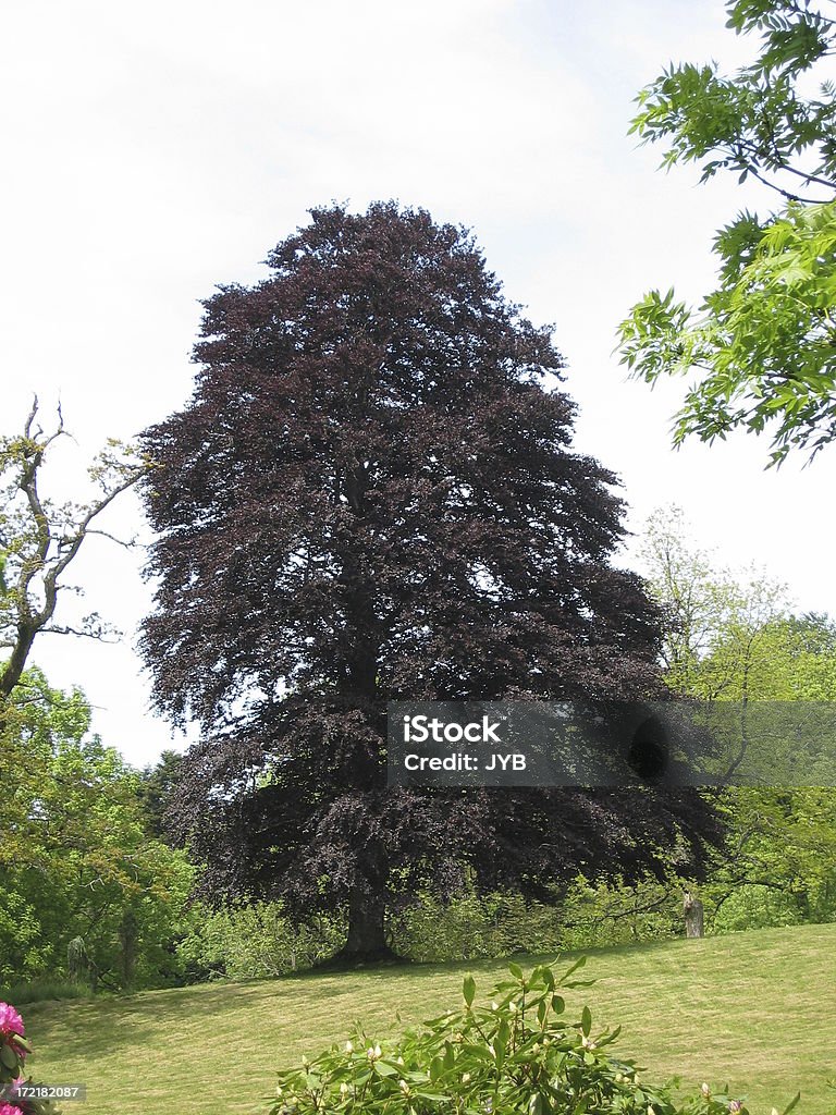
[[[60,975],[81,938],[109,987],[157,982],[193,870],[148,835],[139,775],[89,734],[80,690],[36,667],[12,692],[0,779],[0,982]]]

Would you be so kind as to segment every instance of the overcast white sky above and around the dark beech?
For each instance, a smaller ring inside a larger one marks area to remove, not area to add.
[[[710,240],[769,197],[655,172],[632,98],[670,60],[754,48],[720,0],[32,0],[0,14],[4,169],[0,427],[60,395],[77,445],[129,438],[188,397],[200,299],[263,274],[266,251],[331,200],[421,205],[470,226],[514,301],[554,322],[581,406],[576,444],[618,472],[639,527],[675,501],[701,542],[757,561],[799,609],[836,612],[836,449],[765,472],[767,444],[670,449],[681,385],[653,392],[612,356],[649,287],[697,298]],[[108,525],[135,529],[126,497]],[[183,746],[148,710],[134,652],[140,559],[93,540],[76,580],[116,646],[43,637],[95,728],[135,764]]]

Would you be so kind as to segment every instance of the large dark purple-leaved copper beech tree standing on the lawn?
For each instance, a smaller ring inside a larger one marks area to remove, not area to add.
[[[202,724],[175,820],[206,885],[347,911],[368,957],[393,901],[465,874],[543,895],[697,863],[687,794],[387,789],[387,700],[645,695],[657,617],[610,564],[622,504],[571,449],[550,330],[465,231],[333,206],[266,262],[206,302],[194,396],[144,438],[144,647]]]

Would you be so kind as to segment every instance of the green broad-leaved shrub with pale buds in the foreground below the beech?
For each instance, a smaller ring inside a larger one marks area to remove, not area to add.
[[[583,962],[560,979],[548,966],[526,976],[511,964],[511,979],[485,1007],[474,1006],[468,976],[463,1009],[398,1041],[358,1032],[280,1073],[271,1115],[748,1115],[742,1097],[712,1093],[707,1084],[674,1101],[670,1088],[645,1083],[634,1061],[611,1054],[618,1029],[593,1029],[589,1007],[567,1018],[558,989],[587,986],[572,979]]]

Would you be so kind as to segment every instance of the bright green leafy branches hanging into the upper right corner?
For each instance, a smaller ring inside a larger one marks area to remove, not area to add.
[[[809,0],[735,0],[728,27],[760,52],[723,76],[671,66],[644,88],[631,132],[668,145],[662,165],[697,163],[771,187],[774,213],[718,232],[719,282],[699,310],[658,290],[620,327],[622,361],[653,384],[696,374],[674,440],[769,430],[771,463],[836,437],[836,87],[806,96],[836,50],[836,20]],[[824,76],[824,75],[823,75]]]

